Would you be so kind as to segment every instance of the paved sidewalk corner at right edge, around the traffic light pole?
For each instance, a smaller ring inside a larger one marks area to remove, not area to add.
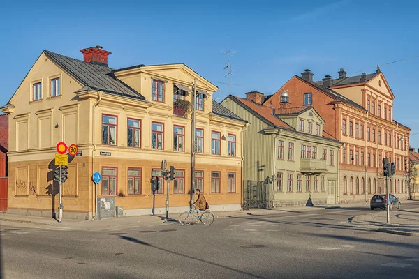
[[[406,202],[404,202],[406,204]],[[378,211],[378,212],[376,212]],[[390,211],[390,223],[387,225],[387,211],[376,210],[374,213],[355,216],[352,225],[376,229],[378,232],[399,234],[404,236],[419,236],[419,208]]]

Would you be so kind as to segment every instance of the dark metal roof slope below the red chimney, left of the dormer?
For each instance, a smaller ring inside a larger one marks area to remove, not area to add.
[[[44,50],[44,53],[69,75],[86,86],[85,89],[101,90],[110,94],[145,100],[140,93],[117,80],[112,74],[112,68],[87,63],[48,50]]]

